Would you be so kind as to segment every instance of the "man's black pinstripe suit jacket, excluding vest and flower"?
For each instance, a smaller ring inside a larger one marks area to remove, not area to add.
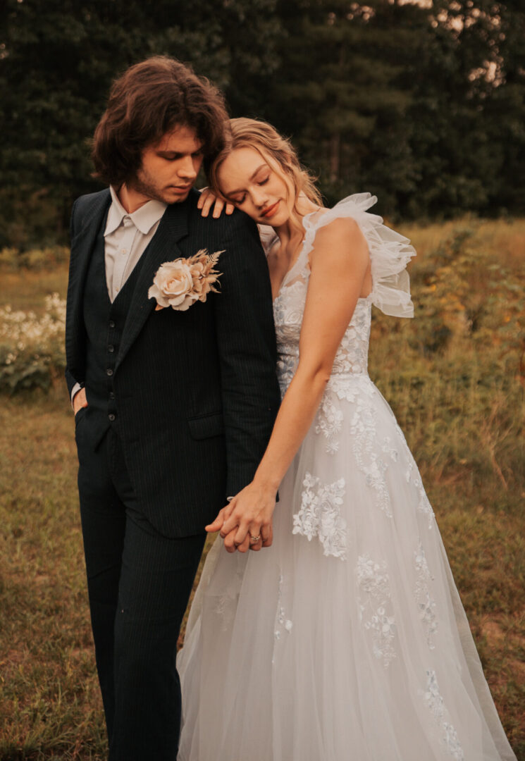
[[[139,505],[173,537],[202,531],[226,496],[250,482],[279,403],[272,295],[256,225],[240,212],[203,218],[198,197],[193,190],[167,208],[143,254],[113,376],[119,436]],[[73,207],[65,328],[70,392],[85,377],[84,281],[109,203],[103,190]],[[155,311],[148,288],[158,267],[202,248],[224,250],[221,292],[186,312]],[[88,423],[86,417],[82,425]]]

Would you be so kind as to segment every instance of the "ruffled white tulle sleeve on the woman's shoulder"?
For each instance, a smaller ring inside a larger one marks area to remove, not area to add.
[[[415,249],[408,238],[387,228],[383,218],[371,214],[368,209],[377,203],[371,193],[356,193],[339,201],[323,215],[305,218],[307,237],[333,219],[355,219],[368,242],[372,268],[371,301],[384,314],[393,317],[414,317],[414,305],[410,298],[410,279],[406,266],[415,256]],[[316,219],[317,217],[317,219]]]

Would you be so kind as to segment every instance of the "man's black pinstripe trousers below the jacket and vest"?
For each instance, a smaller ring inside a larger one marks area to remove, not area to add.
[[[170,539],[141,514],[110,428],[97,451],[76,426],[78,489],[110,761],[175,761],[180,624],[205,533]]]

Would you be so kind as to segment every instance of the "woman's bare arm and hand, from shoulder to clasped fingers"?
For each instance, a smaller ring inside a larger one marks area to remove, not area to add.
[[[310,254],[310,281],[304,309],[300,359],[263,460],[253,481],[206,529],[221,530],[230,551],[246,551],[250,534],[272,542],[275,495],[307,434],[329,380],[337,349],[370,279],[368,245],[358,224],[339,218],[321,228]],[[234,533],[234,528],[237,532]],[[260,545],[259,545],[260,546]]]

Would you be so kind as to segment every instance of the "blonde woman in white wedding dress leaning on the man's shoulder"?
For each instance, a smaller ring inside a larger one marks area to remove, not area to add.
[[[368,377],[372,304],[412,317],[414,249],[368,193],[324,209],[266,123],[231,121],[211,180],[272,228],[283,398],[253,482],[207,527],[228,552],[209,552],[177,660],[179,761],[515,759],[417,466]]]

